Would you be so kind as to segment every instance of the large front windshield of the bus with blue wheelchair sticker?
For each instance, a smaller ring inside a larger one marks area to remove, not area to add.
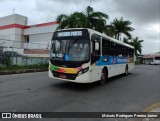
[[[53,40],[51,59],[65,61],[85,61],[89,59],[88,40]]]

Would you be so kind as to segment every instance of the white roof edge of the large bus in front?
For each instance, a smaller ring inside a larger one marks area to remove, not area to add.
[[[100,36],[102,36],[102,37],[104,37],[104,38],[107,38],[107,39],[113,41],[113,42],[116,42],[116,43],[118,43],[118,44],[121,44],[121,45],[124,45],[124,46],[126,46],[126,47],[129,47],[129,48],[134,49],[134,47],[131,46],[131,45],[129,45],[129,44],[126,44],[126,43],[121,42],[121,41],[119,41],[119,40],[117,40],[117,39],[114,39],[114,38],[112,38],[112,37],[110,37],[110,36],[107,36],[106,34],[102,34],[102,33],[98,32],[98,31],[95,31],[95,30],[89,29],[89,28],[68,28],[68,29],[61,29],[61,30],[57,30],[57,31],[76,30],[76,29],[77,29],[77,30],[78,30],[78,29],[86,29],[86,30],[88,30],[88,31],[89,31],[90,33],[92,33],[92,34],[100,35]]]

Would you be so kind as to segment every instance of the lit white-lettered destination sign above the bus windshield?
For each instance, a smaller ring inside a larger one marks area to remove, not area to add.
[[[58,32],[58,37],[82,36],[82,31]]]

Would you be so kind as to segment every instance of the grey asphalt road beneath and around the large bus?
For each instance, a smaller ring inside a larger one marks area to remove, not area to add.
[[[141,112],[159,101],[157,65],[136,65],[101,86],[53,80],[47,72],[0,76],[0,112]]]

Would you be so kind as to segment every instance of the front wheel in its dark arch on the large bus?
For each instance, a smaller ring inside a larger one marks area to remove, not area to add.
[[[108,79],[108,69],[107,67],[104,67],[101,72],[101,79],[99,80],[99,83],[103,85],[106,83],[107,79]]]

